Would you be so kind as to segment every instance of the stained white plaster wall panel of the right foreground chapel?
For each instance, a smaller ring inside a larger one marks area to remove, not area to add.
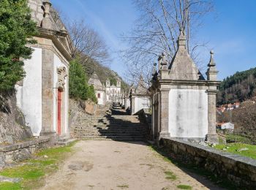
[[[205,138],[208,96],[205,90],[172,89],[169,93],[170,137]]]

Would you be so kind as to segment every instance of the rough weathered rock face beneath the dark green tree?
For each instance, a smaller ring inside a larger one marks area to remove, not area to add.
[[[16,107],[15,93],[0,94],[0,144],[12,144],[31,137],[23,113]]]

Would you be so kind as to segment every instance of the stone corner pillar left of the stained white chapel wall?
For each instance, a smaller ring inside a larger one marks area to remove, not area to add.
[[[169,91],[170,89],[161,89],[160,90],[160,99],[159,99],[159,140],[163,137],[170,137],[169,133]]]

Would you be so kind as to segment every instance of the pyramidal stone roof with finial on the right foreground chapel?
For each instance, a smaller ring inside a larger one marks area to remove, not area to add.
[[[170,63],[171,80],[204,80],[203,75],[197,69],[186,48],[186,37],[184,31],[181,31],[178,37],[178,50]]]

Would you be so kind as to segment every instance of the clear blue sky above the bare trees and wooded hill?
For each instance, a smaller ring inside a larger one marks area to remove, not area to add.
[[[110,68],[124,75],[124,64],[116,52],[124,47],[121,34],[132,28],[138,16],[132,0],[51,0],[70,20],[83,18],[105,38],[113,58]],[[200,40],[208,42],[202,50],[208,64],[208,51],[214,50],[219,80],[256,66],[256,1],[214,0],[215,10],[204,18]]]

